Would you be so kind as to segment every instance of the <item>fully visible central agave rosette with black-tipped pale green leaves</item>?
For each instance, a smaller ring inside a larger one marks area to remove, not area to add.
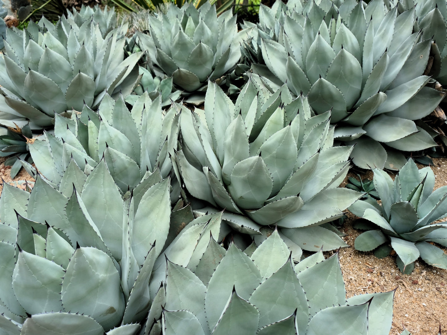
[[[332,147],[330,112],[312,116],[307,99],[292,101],[286,86],[264,94],[250,80],[234,105],[210,83],[204,111],[181,109],[176,160],[186,189],[226,209],[224,219],[241,232],[259,234],[277,223],[301,227],[281,233],[306,250],[346,246],[319,225],[341,217],[361,196],[337,188],[352,147]]]

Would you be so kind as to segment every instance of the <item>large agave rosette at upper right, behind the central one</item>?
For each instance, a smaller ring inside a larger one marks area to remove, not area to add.
[[[430,114],[444,96],[426,86],[431,40],[413,33],[414,8],[398,16],[397,7],[376,13],[381,1],[372,1],[367,8],[357,4],[347,16],[308,3],[303,15],[261,8],[260,19],[274,34],[260,34],[265,65],[253,71],[307,95],[317,114],[332,108],[334,138],[355,144],[351,157],[359,167],[399,169],[405,164],[399,151],[435,146],[434,132],[413,121]]]

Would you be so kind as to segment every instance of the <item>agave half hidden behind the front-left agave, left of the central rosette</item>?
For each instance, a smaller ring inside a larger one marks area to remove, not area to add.
[[[70,157],[87,174],[103,159],[125,194],[148,174],[156,172],[160,179],[171,174],[170,155],[174,155],[178,137],[176,114],[177,109],[171,108],[163,116],[160,97],[152,102],[148,93],[139,97],[132,110],[122,96],[115,101],[106,95],[98,113],[84,106],[70,119],[56,114],[54,135],[45,132],[42,139],[29,144],[31,156],[38,172],[56,185],[62,183]],[[34,167],[22,164],[37,176]],[[171,186],[173,202],[177,202],[180,184],[174,174]]]

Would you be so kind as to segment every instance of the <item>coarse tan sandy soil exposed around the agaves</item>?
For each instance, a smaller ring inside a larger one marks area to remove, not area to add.
[[[433,161],[435,188],[447,185],[447,159]],[[5,167],[3,162],[4,158],[0,158],[0,176],[11,183],[9,168]],[[419,164],[418,166],[423,167]],[[349,176],[357,175],[350,173]],[[372,172],[362,175],[362,178],[371,180]],[[14,178],[25,179],[34,181],[23,169]],[[346,180],[342,185],[346,184]],[[0,192],[1,188],[0,186]],[[354,215],[349,212],[347,215],[341,230],[346,234],[346,243],[353,246],[360,231],[352,228]],[[447,253],[447,248],[445,252]],[[332,252],[326,254],[330,255]],[[388,256],[380,260],[372,252],[355,251],[353,247],[340,251],[340,264],[347,297],[396,289],[390,335],[400,334],[404,327],[413,335],[437,335],[440,323],[443,334],[447,333],[447,270],[431,267],[419,260],[413,273],[404,275],[397,268],[394,257]]]

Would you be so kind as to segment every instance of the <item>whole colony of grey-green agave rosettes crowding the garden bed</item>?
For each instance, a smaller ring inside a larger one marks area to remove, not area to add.
[[[349,208],[357,250],[447,268],[447,186],[402,153],[436,144],[438,2],[277,1],[240,30],[171,5],[131,38],[97,7],[8,29],[1,155],[36,182],[0,196],[0,333],[388,334],[394,292],[346,299],[322,251],[347,246],[331,222]],[[339,188],[350,159],[373,181]]]

